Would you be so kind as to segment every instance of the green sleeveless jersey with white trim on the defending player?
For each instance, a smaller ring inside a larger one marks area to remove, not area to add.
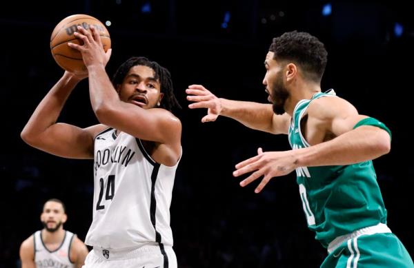
[[[289,127],[289,143],[295,149],[309,147],[300,121],[314,99],[336,97],[335,92],[318,92],[297,103]],[[308,227],[327,247],[337,236],[386,223],[386,209],[372,161],[354,165],[298,167],[299,194]]]

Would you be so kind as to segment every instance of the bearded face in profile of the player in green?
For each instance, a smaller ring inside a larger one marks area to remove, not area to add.
[[[273,112],[276,114],[284,114],[284,105],[289,97],[289,92],[283,81],[283,67],[275,59],[274,52],[268,52],[264,66],[266,75],[263,84],[266,86],[266,92],[269,94],[268,101],[273,103]]]

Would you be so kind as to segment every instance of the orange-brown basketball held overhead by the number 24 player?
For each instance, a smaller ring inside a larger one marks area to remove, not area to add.
[[[109,32],[101,21],[86,14],[75,14],[62,19],[56,25],[50,37],[50,51],[52,52],[53,59],[64,70],[85,74],[88,70],[86,70],[86,66],[83,64],[81,52],[70,48],[68,45],[68,43],[83,45],[83,41],[77,39],[73,34],[77,32],[78,25],[81,25],[86,30],[89,30],[90,25],[93,25],[101,37],[103,50],[106,52],[110,48]]]

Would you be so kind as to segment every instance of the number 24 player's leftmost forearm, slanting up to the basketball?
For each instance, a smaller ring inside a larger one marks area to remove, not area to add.
[[[50,125],[56,123],[63,105],[77,83],[79,83],[79,79],[75,79],[67,72],[63,74],[30,116],[28,123],[21,132],[23,140],[27,142],[32,138],[36,138]]]

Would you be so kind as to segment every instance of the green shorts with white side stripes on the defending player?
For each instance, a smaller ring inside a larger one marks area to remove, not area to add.
[[[365,234],[345,240],[321,268],[414,268],[410,254],[392,233]]]

